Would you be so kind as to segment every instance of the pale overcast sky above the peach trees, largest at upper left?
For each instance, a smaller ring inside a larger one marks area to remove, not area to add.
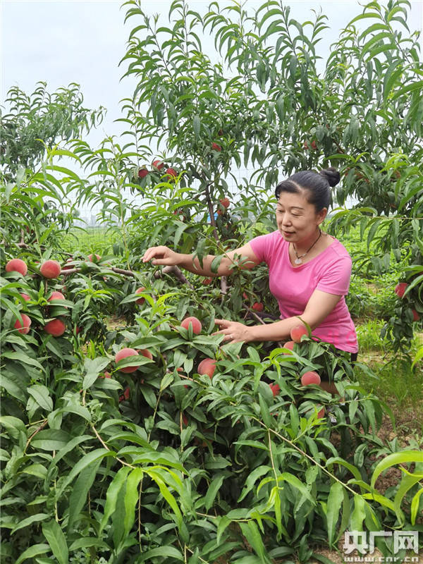
[[[106,121],[92,140],[117,134],[123,127],[113,123],[120,116],[119,101],[131,96],[135,84],[128,78],[120,82],[125,63],[119,68],[118,62],[125,54],[130,30],[138,23],[130,18],[124,25],[127,8],[121,8],[122,4],[121,0],[0,0],[1,103],[13,85],[29,94],[39,80],[47,81],[49,92],[77,82],[86,107],[102,105],[108,110]],[[149,13],[166,15],[170,4],[170,0],[145,0],[142,7]],[[191,0],[189,4],[203,11],[209,0]],[[264,0],[250,0],[247,6],[262,4]],[[357,0],[290,0],[286,4],[301,22],[312,18],[312,8],[321,7],[329,16],[331,29],[326,30],[319,45],[319,52],[326,50],[326,56],[339,30],[362,12]],[[422,29],[423,0],[412,2],[409,24],[412,29]]]

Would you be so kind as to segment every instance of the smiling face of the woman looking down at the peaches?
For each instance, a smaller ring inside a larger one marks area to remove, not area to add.
[[[303,191],[300,194],[281,192],[276,204],[276,223],[286,241],[307,242],[316,236],[326,213],[326,207],[316,212],[314,205],[307,202]]]

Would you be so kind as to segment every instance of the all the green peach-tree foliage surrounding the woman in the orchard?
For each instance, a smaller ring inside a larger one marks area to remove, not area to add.
[[[123,101],[128,143],[92,149],[80,138],[102,112],[82,109],[73,87],[12,89],[1,122],[16,127],[1,169],[4,562],[306,563],[345,529],[419,527],[422,453],[378,438],[391,412],[357,385],[347,355],[309,334],[289,346],[224,345],[214,334],[216,317],[276,317],[264,266],[235,261],[228,279],[206,281],[141,260],[168,245],[216,255],[217,269],[228,248],[274,229],[276,180],[335,165],[335,200],[358,204],[331,224],[360,221],[374,253],[357,264],[408,261],[388,330],[398,345],[409,338],[412,310],[423,312],[423,220],[422,68],[417,37],[404,33],[407,2],[365,6],[323,75],[321,14],[300,23],[276,1],[254,13],[213,2],[204,14],[175,1],[166,27],[141,4],[124,4],[135,27],[122,62],[139,79]],[[254,171],[231,193],[226,179],[242,164]],[[63,251],[82,204],[100,205],[118,234],[112,248]],[[6,269],[13,258],[25,275]],[[43,276],[47,260],[61,264],[56,278]],[[181,326],[186,317],[200,333]],[[51,321],[63,333],[45,331]],[[123,348],[138,354],[116,364]],[[212,377],[200,374],[205,359]],[[340,396],[308,384],[311,372]],[[381,491],[377,478],[395,465],[399,486]],[[377,546],[393,554],[390,539]]]

